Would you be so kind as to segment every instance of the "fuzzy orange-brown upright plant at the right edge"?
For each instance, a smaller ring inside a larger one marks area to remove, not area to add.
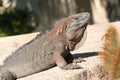
[[[117,80],[120,67],[120,46],[118,33],[114,26],[110,26],[104,35],[103,51],[100,56],[104,62],[108,80]]]

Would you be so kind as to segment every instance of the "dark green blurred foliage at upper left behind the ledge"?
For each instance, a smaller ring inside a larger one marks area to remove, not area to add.
[[[36,27],[32,12],[13,8],[3,8],[0,13],[0,36],[30,33]]]

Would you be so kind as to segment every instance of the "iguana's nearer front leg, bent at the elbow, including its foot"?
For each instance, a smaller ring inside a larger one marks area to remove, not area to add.
[[[55,59],[55,63],[58,67],[60,67],[61,69],[65,69],[65,70],[69,70],[69,69],[82,69],[81,66],[77,65],[77,64],[73,64],[73,63],[68,63],[65,58],[63,57],[63,55],[65,55],[66,51],[63,48],[59,48],[56,49],[54,52],[54,59]],[[70,53],[67,53],[67,56],[70,58],[72,58],[72,55]],[[66,56],[66,57],[67,57]]]

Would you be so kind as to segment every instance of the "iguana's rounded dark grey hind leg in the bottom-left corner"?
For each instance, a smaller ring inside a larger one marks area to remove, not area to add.
[[[0,65],[0,80],[16,80],[16,77]]]

